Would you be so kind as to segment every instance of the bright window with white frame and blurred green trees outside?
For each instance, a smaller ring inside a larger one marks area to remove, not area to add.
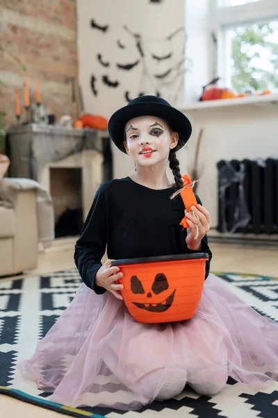
[[[218,75],[238,93],[278,91],[278,1],[213,0]]]

